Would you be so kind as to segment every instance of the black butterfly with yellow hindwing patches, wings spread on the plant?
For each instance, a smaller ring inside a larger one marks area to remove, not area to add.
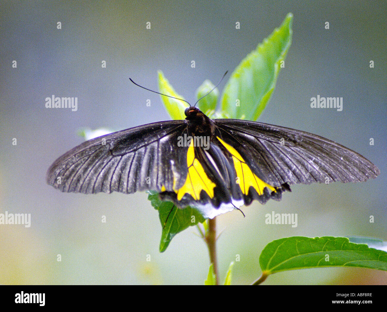
[[[210,119],[195,105],[185,109],[184,120],[145,124],[78,145],[55,160],[47,183],[85,194],[156,191],[179,208],[195,207],[213,218],[253,200],[281,200],[291,184],[358,182],[380,173],[360,154],[321,136]]]

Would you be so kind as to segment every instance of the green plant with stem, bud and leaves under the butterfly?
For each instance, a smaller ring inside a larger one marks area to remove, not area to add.
[[[274,90],[279,70],[284,65],[291,45],[293,16],[289,13],[283,24],[259,44],[233,71],[221,96],[221,110],[217,111],[217,88],[199,102],[199,108],[207,116],[217,118],[248,119],[255,121],[265,108]],[[159,71],[159,91],[182,98],[175,92],[163,73]],[[197,89],[197,98],[208,93],[214,85],[206,80]],[[173,119],[184,119],[185,103],[161,96],[166,110]],[[243,105],[235,105],[240,101]],[[157,193],[150,192],[148,199],[158,210],[162,225],[159,250],[164,252],[173,236],[197,226],[209,248],[210,268],[206,285],[219,284],[216,260],[216,218],[205,220],[194,208],[178,209],[171,202],[162,202]],[[259,263],[262,276],[253,284],[262,283],[270,274],[313,267],[353,266],[387,271],[387,252],[369,248],[382,241],[361,238],[359,243],[345,237],[289,237],[272,241],[262,251]],[[368,245],[366,245],[368,244]],[[224,284],[231,283],[231,263]]]

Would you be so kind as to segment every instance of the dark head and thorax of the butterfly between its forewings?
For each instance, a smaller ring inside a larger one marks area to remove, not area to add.
[[[202,111],[191,106],[185,110],[185,115],[190,134],[210,137],[214,135],[215,124]]]

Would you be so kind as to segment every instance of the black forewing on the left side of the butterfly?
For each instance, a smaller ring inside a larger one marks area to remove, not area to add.
[[[76,193],[172,190],[187,173],[187,148],[176,148],[186,128],[183,120],[155,122],[86,141],[55,160],[47,183]]]

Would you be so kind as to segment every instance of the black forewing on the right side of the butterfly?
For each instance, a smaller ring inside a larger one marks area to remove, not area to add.
[[[378,168],[360,154],[315,134],[238,119],[215,119],[217,131],[272,186],[357,182]]]

